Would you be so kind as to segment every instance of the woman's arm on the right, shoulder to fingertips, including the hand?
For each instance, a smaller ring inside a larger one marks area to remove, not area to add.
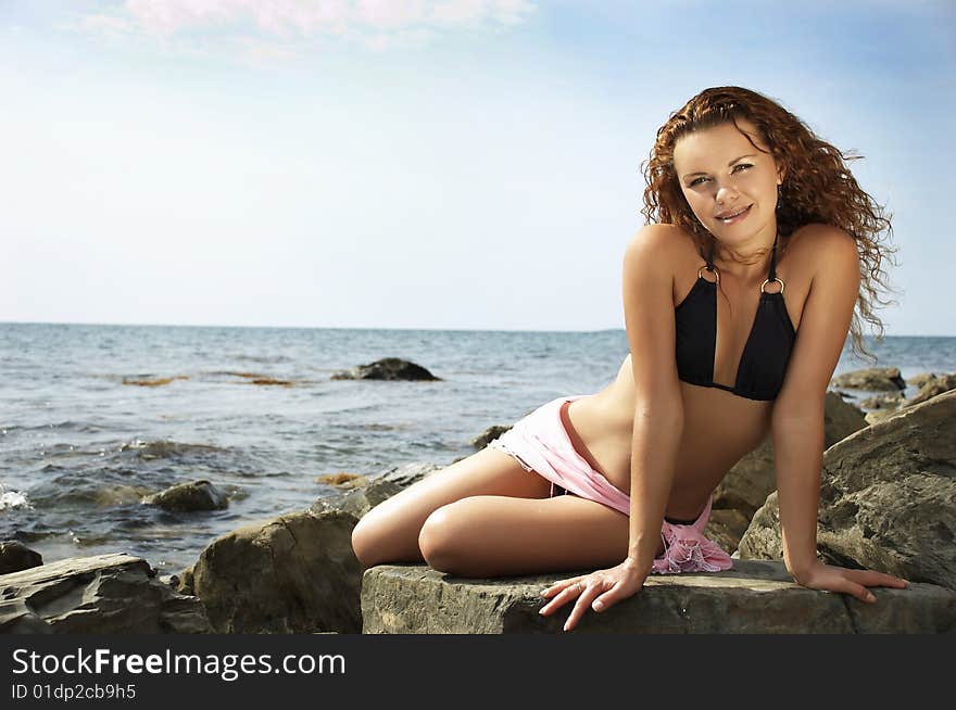
[[[823,458],[823,405],[843,351],[859,292],[859,256],[850,234],[814,225],[804,234],[817,255],[783,386],[773,404],[772,440],[783,561],[804,586],[872,601],[867,586],[906,586],[904,580],[850,570],[817,559],[817,510]]]

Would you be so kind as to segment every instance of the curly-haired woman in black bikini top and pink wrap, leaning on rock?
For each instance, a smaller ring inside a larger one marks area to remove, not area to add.
[[[707,89],[672,114],[646,164],[649,224],[624,255],[630,354],[615,380],[375,507],[352,535],[363,566],[603,567],[543,592],[543,614],[577,600],[567,631],[651,572],[730,568],[702,534],[710,495],[770,432],[794,581],[867,601],[867,587],[906,586],[816,556],[825,395],[847,332],[864,352],[859,317],[880,325],[870,302],[891,229],[843,161],[746,89]]]

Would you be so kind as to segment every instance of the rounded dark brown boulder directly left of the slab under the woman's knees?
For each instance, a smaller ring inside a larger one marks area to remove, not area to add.
[[[234,530],[185,572],[219,633],[361,630],[356,518],[294,512]]]

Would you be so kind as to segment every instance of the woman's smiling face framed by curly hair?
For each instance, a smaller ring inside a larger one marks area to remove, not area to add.
[[[763,151],[766,144],[749,121],[738,121]],[[777,230],[773,156],[762,152],[732,123],[689,134],[674,147],[680,189],[702,225],[729,248],[772,242]]]

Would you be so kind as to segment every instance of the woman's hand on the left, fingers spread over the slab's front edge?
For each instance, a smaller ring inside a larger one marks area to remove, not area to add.
[[[553,613],[577,597],[578,601],[564,624],[564,630],[570,631],[584,614],[588,606],[591,606],[594,611],[604,611],[621,599],[637,594],[644,585],[649,571],[641,572],[637,562],[628,557],[617,567],[607,570],[598,570],[583,576],[558,580],[541,593],[541,596],[545,598],[555,594],[557,596],[541,607],[539,613],[544,616]]]

